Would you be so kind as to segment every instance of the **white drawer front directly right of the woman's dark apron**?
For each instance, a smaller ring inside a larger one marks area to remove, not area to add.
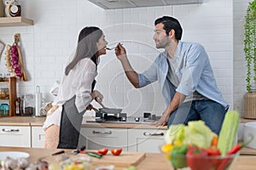
[[[100,148],[122,148],[128,150],[126,128],[82,127],[79,145],[85,145],[88,150]]]

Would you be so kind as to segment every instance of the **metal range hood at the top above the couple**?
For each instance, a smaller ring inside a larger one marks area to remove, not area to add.
[[[192,4],[192,3],[203,2],[203,0],[89,0],[89,1],[105,9],[155,7],[155,6],[180,5],[180,4]]]

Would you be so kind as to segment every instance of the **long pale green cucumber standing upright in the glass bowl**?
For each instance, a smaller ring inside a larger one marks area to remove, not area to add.
[[[224,122],[218,136],[218,149],[224,156],[234,146],[237,129],[240,123],[238,111],[228,111],[224,117]]]

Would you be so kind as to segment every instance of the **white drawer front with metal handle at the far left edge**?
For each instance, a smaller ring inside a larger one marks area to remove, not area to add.
[[[0,126],[0,146],[31,147],[30,126]]]

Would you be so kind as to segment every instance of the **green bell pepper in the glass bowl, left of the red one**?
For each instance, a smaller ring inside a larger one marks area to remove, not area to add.
[[[172,167],[183,168],[187,167],[186,153],[188,146],[185,144],[174,146],[171,152]]]

